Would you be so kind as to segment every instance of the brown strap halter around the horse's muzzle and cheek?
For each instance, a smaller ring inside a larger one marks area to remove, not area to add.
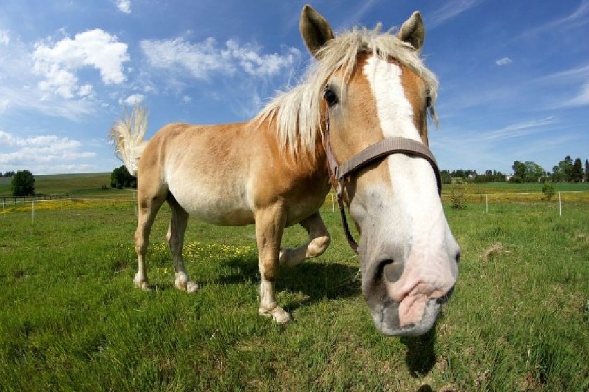
[[[342,216],[342,226],[344,226],[344,233],[346,234],[348,244],[350,244],[350,247],[356,254],[358,253],[358,244],[352,237],[352,233],[350,233],[350,228],[348,227],[348,221],[346,219],[346,213],[344,211],[344,200],[342,198],[342,192],[344,190],[344,186],[346,186],[346,179],[348,179],[350,175],[356,173],[361,168],[364,168],[364,166],[373,164],[375,161],[378,161],[391,154],[416,155],[418,157],[424,158],[429,162],[429,164],[431,164],[433,173],[436,174],[438,195],[440,195],[440,197],[442,195],[442,179],[440,177],[440,169],[438,168],[438,164],[436,164],[436,159],[433,157],[431,150],[429,150],[427,146],[420,143],[419,141],[407,139],[405,137],[391,137],[389,139],[384,139],[376,144],[373,144],[372,146],[368,146],[340,165],[335,160],[335,155],[333,155],[333,150],[331,148],[331,141],[329,136],[329,112],[326,110],[325,152],[327,155],[330,182],[335,189],[335,195],[337,195],[337,204],[339,206],[339,214]]]

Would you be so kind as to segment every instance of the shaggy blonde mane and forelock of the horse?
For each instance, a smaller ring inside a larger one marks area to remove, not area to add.
[[[431,97],[430,115],[436,119],[433,105],[436,102],[438,80],[424,66],[418,50],[403,42],[391,32],[380,32],[381,25],[374,30],[353,28],[328,41],[317,52],[319,61],[312,63],[303,77],[303,83],[280,93],[259,112],[254,121],[261,124],[266,119],[277,121],[279,144],[293,156],[307,153],[314,156],[317,132],[321,130],[321,100],[324,85],[336,70],[344,70],[349,79],[357,55],[373,53],[381,59],[396,59],[424,80]]]

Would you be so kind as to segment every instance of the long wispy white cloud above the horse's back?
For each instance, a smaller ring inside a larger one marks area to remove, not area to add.
[[[261,53],[255,44],[240,46],[234,40],[219,45],[214,38],[190,43],[183,37],[140,43],[144,55],[156,68],[187,70],[196,79],[209,79],[214,74],[234,75],[237,72],[252,77],[277,75],[301,57],[296,48],[285,48],[282,54]]]

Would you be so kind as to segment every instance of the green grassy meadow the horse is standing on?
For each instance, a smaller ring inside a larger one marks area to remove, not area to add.
[[[189,295],[172,287],[165,206],[148,261],[156,290],[144,293],[132,284],[132,202],[48,203],[34,222],[7,208],[0,391],[587,391],[589,204],[565,207],[561,217],[543,201],[446,208],[460,277],[418,338],[376,331],[330,203],[328,251],[281,271],[286,326],[257,315],[253,226],[190,220],[184,255],[202,288]],[[293,227],[283,242],[305,237]]]

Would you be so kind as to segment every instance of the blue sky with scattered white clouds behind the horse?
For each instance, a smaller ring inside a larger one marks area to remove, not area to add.
[[[303,1],[14,0],[0,3],[0,172],[120,166],[107,133],[149,107],[174,121],[250,119],[310,63]],[[334,30],[424,18],[440,79],[440,168],[545,170],[589,158],[589,1],[315,1]]]

